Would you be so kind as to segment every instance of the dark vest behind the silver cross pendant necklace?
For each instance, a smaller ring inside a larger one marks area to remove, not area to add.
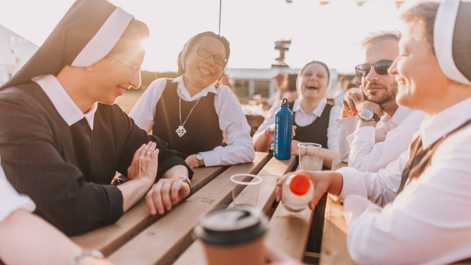
[[[177,150],[183,158],[210,151],[221,145],[223,137],[219,128],[219,116],[214,108],[215,94],[211,92],[201,98],[196,106],[196,101],[181,100],[182,123],[194,106],[195,109],[185,123],[184,127],[187,132],[182,137],[175,132],[180,125],[177,85],[178,83],[173,83],[172,79],[167,80],[162,96],[155,107],[152,133],[168,142],[168,148]]]

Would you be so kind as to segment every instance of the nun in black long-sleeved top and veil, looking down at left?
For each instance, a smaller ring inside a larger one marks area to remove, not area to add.
[[[0,88],[8,181],[69,235],[113,224],[146,193],[155,215],[190,192],[193,172],[179,153],[114,104],[140,86],[147,36],[144,23],[108,1],[77,0]],[[116,171],[129,181],[111,185]]]

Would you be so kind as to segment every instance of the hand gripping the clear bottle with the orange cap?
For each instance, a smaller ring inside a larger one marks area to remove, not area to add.
[[[284,174],[284,176],[279,177],[276,180],[276,188],[275,188],[275,195],[276,201],[280,202],[281,195],[282,195],[282,187],[283,182],[289,175],[292,174],[303,174],[309,177],[309,179],[314,184],[314,197],[309,202],[309,209],[314,210],[319,200],[324,196],[325,192],[329,189],[331,185],[331,174],[339,174],[332,171],[308,171],[308,170],[300,170],[296,172],[290,172],[288,174]]]

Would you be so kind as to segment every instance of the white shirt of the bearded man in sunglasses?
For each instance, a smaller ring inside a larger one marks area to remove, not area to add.
[[[355,130],[357,117],[337,117],[341,157],[361,172],[377,172],[407,150],[426,114],[399,106],[391,117],[385,114],[373,126]],[[345,137],[348,135],[347,137]]]

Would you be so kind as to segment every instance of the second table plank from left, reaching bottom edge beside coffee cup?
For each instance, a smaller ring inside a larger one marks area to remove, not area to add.
[[[230,176],[257,174],[270,157],[268,153],[256,152],[254,162],[229,167],[179,207],[116,250],[109,259],[116,265],[172,263],[193,242],[192,231],[199,219],[213,209],[227,206],[232,200]]]

